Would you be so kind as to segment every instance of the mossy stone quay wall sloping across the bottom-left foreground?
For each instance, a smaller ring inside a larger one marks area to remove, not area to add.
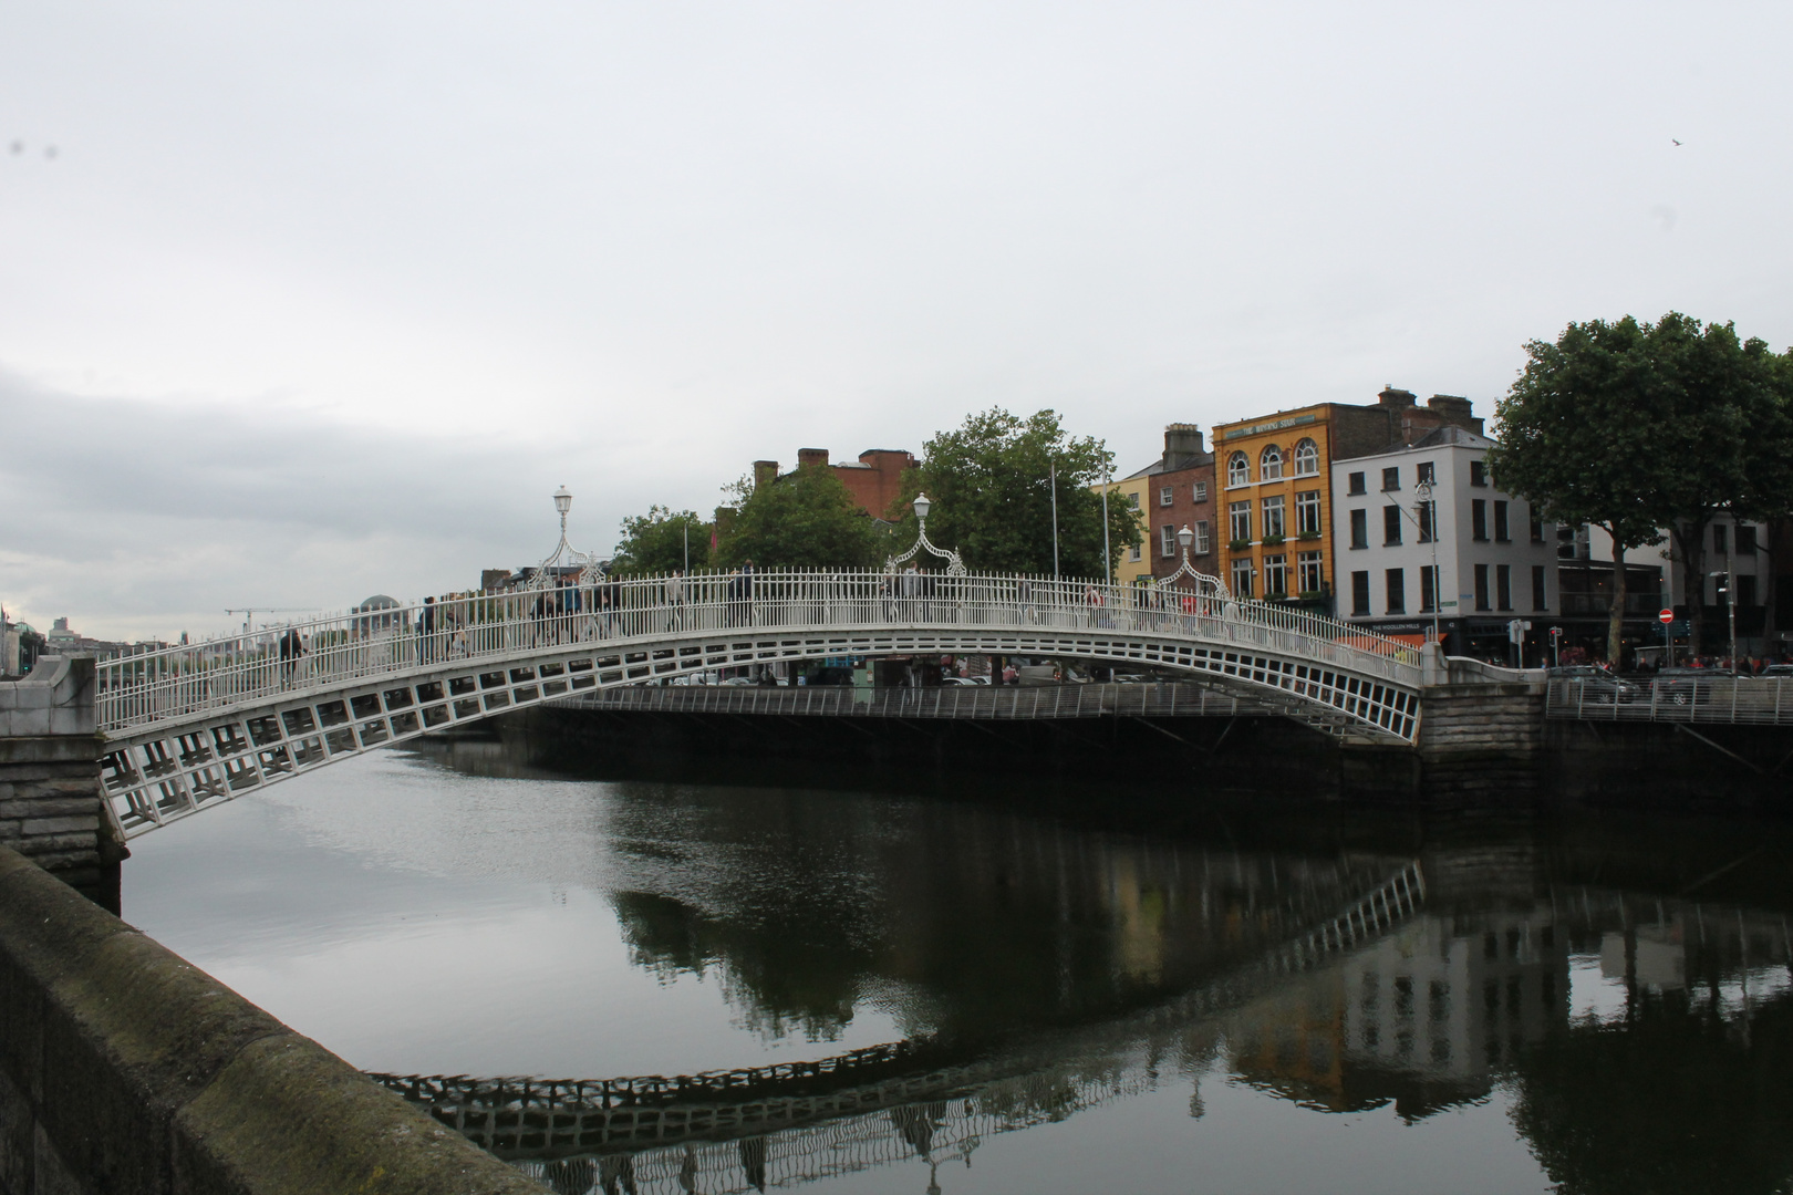
[[[545,1188],[0,847],[0,1190]]]

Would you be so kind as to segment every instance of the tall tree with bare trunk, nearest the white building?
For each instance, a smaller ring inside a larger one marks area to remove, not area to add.
[[[1675,407],[1648,349],[1648,328],[1569,324],[1555,344],[1526,346],[1526,367],[1495,405],[1501,443],[1488,451],[1503,489],[1553,523],[1592,523],[1612,536],[1607,659],[1617,666],[1624,618],[1624,554],[1660,543],[1673,514],[1669,451],[1659,437]]]

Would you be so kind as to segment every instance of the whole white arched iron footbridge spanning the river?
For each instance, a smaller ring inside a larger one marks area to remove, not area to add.
[[[350,754],[574,693],[916,654],[1171,670],[1347,740],[1411,745],[1418,733],[1415,647],[1234,600],[1194,573],[1130,588],[957,568],[588,570],[558,588],[362,607],[102,661],[104,779],[136,835]]]

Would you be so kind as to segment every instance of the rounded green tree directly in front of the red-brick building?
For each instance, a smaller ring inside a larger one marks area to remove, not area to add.
[[[739,568],[871,568],[889,554],[889,534],[859,511],[828,466],[807,464],[739,496],[721,521],[715,563]]]

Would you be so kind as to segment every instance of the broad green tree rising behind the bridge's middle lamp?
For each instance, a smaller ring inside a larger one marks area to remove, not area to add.
[[[1052,410],[1022,419],[992,407],[922,446],[922,464],[904,477],[902,496],[886,518],[898,521],[898,543],[914,543],[909,503],[925,493],[934,503],[927,537],[956,548],[968,568],[1051,573],[1056,473],[1060,573],[1101,577],[1103,498],[1090,486],[1103,480],[1112,459],[1103,443],[1069,437]],[[1139,541],[1133,511],[1110,502],[1112,559]]]

